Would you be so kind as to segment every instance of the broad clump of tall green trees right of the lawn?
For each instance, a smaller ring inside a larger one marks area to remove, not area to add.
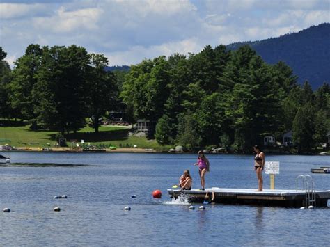
[[[269,134],[281,140],[297,111],[314,98],[324,109],[326,89],[315,96],[309,83],[300,88],[288,65],[267,65],[247,45],[233,52],[207,46],[189,58],[175,54],[132,66],[121,95],[135,118],[158,121],[162,145],[233,145],[244,151]],[[324,127],[319,129],[324,140]]]

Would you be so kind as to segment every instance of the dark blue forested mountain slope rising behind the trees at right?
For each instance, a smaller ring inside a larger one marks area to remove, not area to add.
[[[242,45],[249,45],[266,63],[285,62],[298,76],[299,83],[308,81],[314,90],[330,82],[329,23],[278,38],[233,43],[227,49],[236,50]]]

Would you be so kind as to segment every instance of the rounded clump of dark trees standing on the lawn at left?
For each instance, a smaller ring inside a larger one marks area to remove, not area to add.
[[[104,70],[107,58],[84,47],[29,45],[15,65],[11,115],[29,120],[33,129],[77,132],[89,117],[97,132],[99,118],[118,103],[116,79]]]

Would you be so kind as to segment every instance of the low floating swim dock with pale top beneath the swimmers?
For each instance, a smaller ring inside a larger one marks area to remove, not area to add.
[[[226,189],[212,187],[201,191],[191,189],[190,191],[180,191],[179,189],[168,189],[171,198],[178,198],[180,195],[187,196],[189,202],[215,202],[235,205],[262,205],[276,207],[304,207],[306,205],[305,190],[285,190],[285,189]],[[212,194],[214,198],[212,200]],[[205,197],[206,196],[206,197]],[[315,206],[327,207],[329,191],[315,191]]]

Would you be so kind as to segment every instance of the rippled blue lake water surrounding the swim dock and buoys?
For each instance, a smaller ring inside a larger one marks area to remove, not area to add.
[[[0,166],[0,246],[329,246],[330,202],[315,210],[205,205],[189,210],[166,189],[191,171],[194,154],[12,152],[13,163],[91,166]],[[206,187],[257,188],[253,155],[208,155]],[[276,189],[295,189],[298,175],[330,166],[329,157],[267,156],[280,161]],[[330,175],[313,174],[317,190]],[[264,174],[269,189],[269,176]],[[152,191],[162,191],[161,199]],[[54,196],[68,196],[54,199]],[[136,198],[132,198],[136,195]],[[129,206],[131,211],[124,211]],[[3,213],[8,207],[10,213]],[[54,212],[60,207],[61,212]]]

